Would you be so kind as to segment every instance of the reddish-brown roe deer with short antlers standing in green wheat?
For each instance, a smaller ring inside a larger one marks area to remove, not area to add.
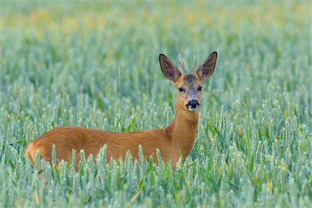
[[[173,168],[180,155],[187,157],[196,137],[200,96],[205,78],[214,73],[217,53],[211,53],[198,70],[194,72],[193,66],[188,73],[179,55],[179,60],[184,73],[181,73],[175,64],[166,55],[159,55],[160,68],[166,78],[173,81],[177,89],[175,115],[173,122],[166,128],[157,130],[142,130],[137,132],[106,132],[89,128],[62,126],[46,132],[41,137],[34,139],[26,148],[26,156],[34,166],[35,153],[40,152],[40,159],[52,161],[52,146],[55,145],[56,162],[69,160],[72,150],[76,150],[76,167],[80,160],[80,150],[85,151],[85,156],[96,157],[99,150],[106,144],[107,156],[118,159],[125,157],[127,151],[135,158],[139,157],[139,145],[143,148],[144,157],[155,155],[156,149],[160,150],[164,162],[171,162]]]

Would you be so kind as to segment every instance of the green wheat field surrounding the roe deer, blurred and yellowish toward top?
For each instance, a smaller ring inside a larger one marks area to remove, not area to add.
[[[0,207],[312,206],[309,1],[2,1],[0,31]],[[106,162],[105,148],[78,171],[24,157],[61,125],[166,127],[176,92],[159,53],[190,68],[212,51],[175,171],[142,155]]]

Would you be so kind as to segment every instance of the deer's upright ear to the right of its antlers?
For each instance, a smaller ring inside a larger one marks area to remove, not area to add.
[[[214,73],[214,67],[216,67],[216,58],[217,53],[214,51],[206,58],[204,62],[202,62],[202,64],[200,64],[200,67],[198,67],[196,73],[202,80]]]

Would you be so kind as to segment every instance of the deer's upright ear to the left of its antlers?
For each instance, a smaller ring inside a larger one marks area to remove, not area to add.
[[[159,54],[159,63],[160,69],[162,69],[162,74],[168,79],[173,82],[177,80],[181,76],[181,72],[170,59],[166,57],[164,54]]]

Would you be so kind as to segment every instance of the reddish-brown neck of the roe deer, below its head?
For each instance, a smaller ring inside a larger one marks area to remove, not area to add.
[[[175,116],[171,125],[168,125],[166,132],[172,141],[173,153],[182,154],[183,158],[187,157],[196,137],[199,119],[199,111],[191,112],[182,109],[175,104]]]

